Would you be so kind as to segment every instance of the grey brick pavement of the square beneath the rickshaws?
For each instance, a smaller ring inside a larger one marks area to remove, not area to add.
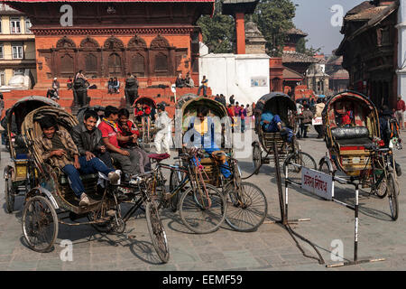
[[[301,140],[302,150],[311,154],[316,162],[325,154],[326,146],[314,138]],[[0,169],[8,163],[8,153],[3,146]],[[406,150],[397,152],[397,160],[406,173]],[[241,160],[243,172],[251,172],[251,160]],[[259,185],[268,199],[268,219],[280,217],[278,194],[274,169],[264,165],[260,174],[250,179]],[[399,179],[401,188],[406,185],[405,177]],[[353,201],[350,187],[338,185],[336,196]],[[360,259],[366,256],[385,257],[386,261],[328,269],[318,262],[302,256],[298,247],[278,224],[263,224],[251,233],[235,232],[226,224],[217,232],[195,235],[188,232],[178,214],[163,211],[161,217],[169,239],[171,259],[168,264],[159,264],[149,238],[144,215],[127,223],[131,238],[98,233],[90,226],[69,228],[60,225],[59,238],[51,253],[33,252],[23,245],[21,213],[22,198],[17,197],[16,211],[5,213],[4,182],[0,183],[0,270],[405,270],[406,214],[405,193],[400,195],[400,217],[393,222],[389,217],[388,199],[377,199],[361,192],[359,251]],[[327,261],[330,260],[331,241],[341,239],[344,243],[344,257],[353,258],[354,212],[338,204],[321,200],[300,189],[290,190],[290,218],[309,218],[310,221],[292,225],[298,233],[318,247]],[[73,262],[60,261],[61,239],[73,241]],[[310,247],[300,242],[306,252],[315,256]]]

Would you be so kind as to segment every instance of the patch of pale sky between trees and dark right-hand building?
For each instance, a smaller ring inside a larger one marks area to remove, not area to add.
[[[337,21],[341,8],[335,9],[335,11],[338,9],[338,12],[332,12],[331,7],[340,5],[345,15],[364,0],[292,0],[292,2],[299,5],[296,7],[293,23],[301,31],[309,34],[306,38],[309,41],[307,46],[321,48],[321,52],[331,54],[331,51],[338,48],[344,36],[340,33],[341,27]]]

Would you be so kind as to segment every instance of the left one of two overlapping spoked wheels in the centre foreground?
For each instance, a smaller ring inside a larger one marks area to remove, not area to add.
[[[206,191],[189,189],[180,197],[180,219],[191,231],[207,234],[217,230],[226,219],[226,196],[206,184]]]

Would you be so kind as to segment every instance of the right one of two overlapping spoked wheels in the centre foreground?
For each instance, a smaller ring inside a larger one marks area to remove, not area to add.
[[[263,224],[268,203],[263,191],[250,182],[235,188],[234,182],[226,186],[226,223],[237,231],[249,232]]]

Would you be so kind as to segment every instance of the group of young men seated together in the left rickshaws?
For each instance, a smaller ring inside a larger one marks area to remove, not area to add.
[[[137,145],[139,132],[129,120],[127,109],[108,106],[97,126],[98,118],[96,111],[86,111],[83,121],[73,127],[70,134],[59,129],[55,117],[40,120],[42,136],[36,142],[42,159],[50,160],[67,174],[79,206],[89,204],[80,173],[101,172],[116,183],[121,171],[115,170],[112,159],[124,172],[125,179],[151,168],[148,154]]]

